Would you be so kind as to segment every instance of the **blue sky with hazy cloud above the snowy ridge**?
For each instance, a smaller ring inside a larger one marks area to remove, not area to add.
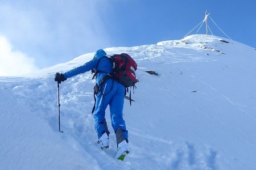
[[[1,67],[2,75],[14,65],[24,70],[24,62],[33,71],[100,48],[182,39],[205,10],[230,38],[256,48],[255,7],[254,0],[0,0],[0,75]]]

